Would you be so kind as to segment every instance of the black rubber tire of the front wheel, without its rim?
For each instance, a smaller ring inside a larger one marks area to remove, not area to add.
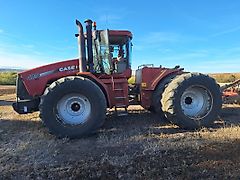
[[[67,94],[81,94],[91,105],[91,114],[83,124],[64,124],[57,116],[57,103]],[[105,119],[106,100],[101,89],[88,79],[75,78],[56,85],[44,97],[42,118],[44,123],[58,136],[79,137],[94,130]]]

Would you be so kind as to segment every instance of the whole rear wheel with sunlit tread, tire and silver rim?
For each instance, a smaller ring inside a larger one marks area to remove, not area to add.
[[[211,126],[221,106],[221,93],[216,81],[199,73],[174,78],[162,98],[162,110],[167,118],[184,129]]]

